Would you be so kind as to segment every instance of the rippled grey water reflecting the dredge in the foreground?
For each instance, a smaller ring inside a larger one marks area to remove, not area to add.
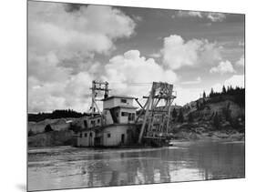
[[[245,177],[244,142],[173,147],[28,150],[28,190],[104,187]]]

